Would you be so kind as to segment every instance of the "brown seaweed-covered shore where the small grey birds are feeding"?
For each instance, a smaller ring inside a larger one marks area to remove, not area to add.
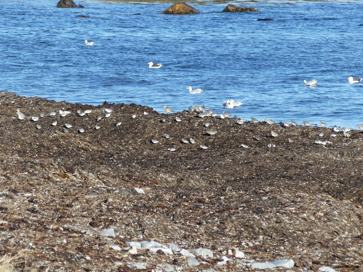
[[[109,117],[105,109],[113,110]],[[61,117],[59,110],[71,113]],[[64,132],[65,124],[73,127]],[[358,130],[331,137],[328,128],[237,124],[188,111],[0,92],[0,133],[0,254],[23,252],[30,270],[127,271],[146,262],[156,271],[166,271],[165,264],[176,271],[253,271],[243,259],[293,259],[292,271],[362,269]],[[196,144],[181,141],[189,138]],[[114,237],[102,232],[110,228]],[[207,248],[213,257],[196,256],[200,264],[190,266],[177,252],[130,251],[129,242],[144,240]],[[222,256],[229,260],[217,264]]]

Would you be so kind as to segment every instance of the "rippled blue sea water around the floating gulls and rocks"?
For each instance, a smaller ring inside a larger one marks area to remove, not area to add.
[[[170,3],[75,2],[86,8],[0,0],[0,90],[159,112],[164,104],[221,112],[234,99],[242,106],[227,112],[244,119],[363,123],[363,83],[347,80],[363,78],[363,1],[236,4],[261,11],[247,13],[192,4],[197,15],[160,14]],[[149,69],[150,61],[164,66]],[[188,86],[204,91],[192,95]]]

